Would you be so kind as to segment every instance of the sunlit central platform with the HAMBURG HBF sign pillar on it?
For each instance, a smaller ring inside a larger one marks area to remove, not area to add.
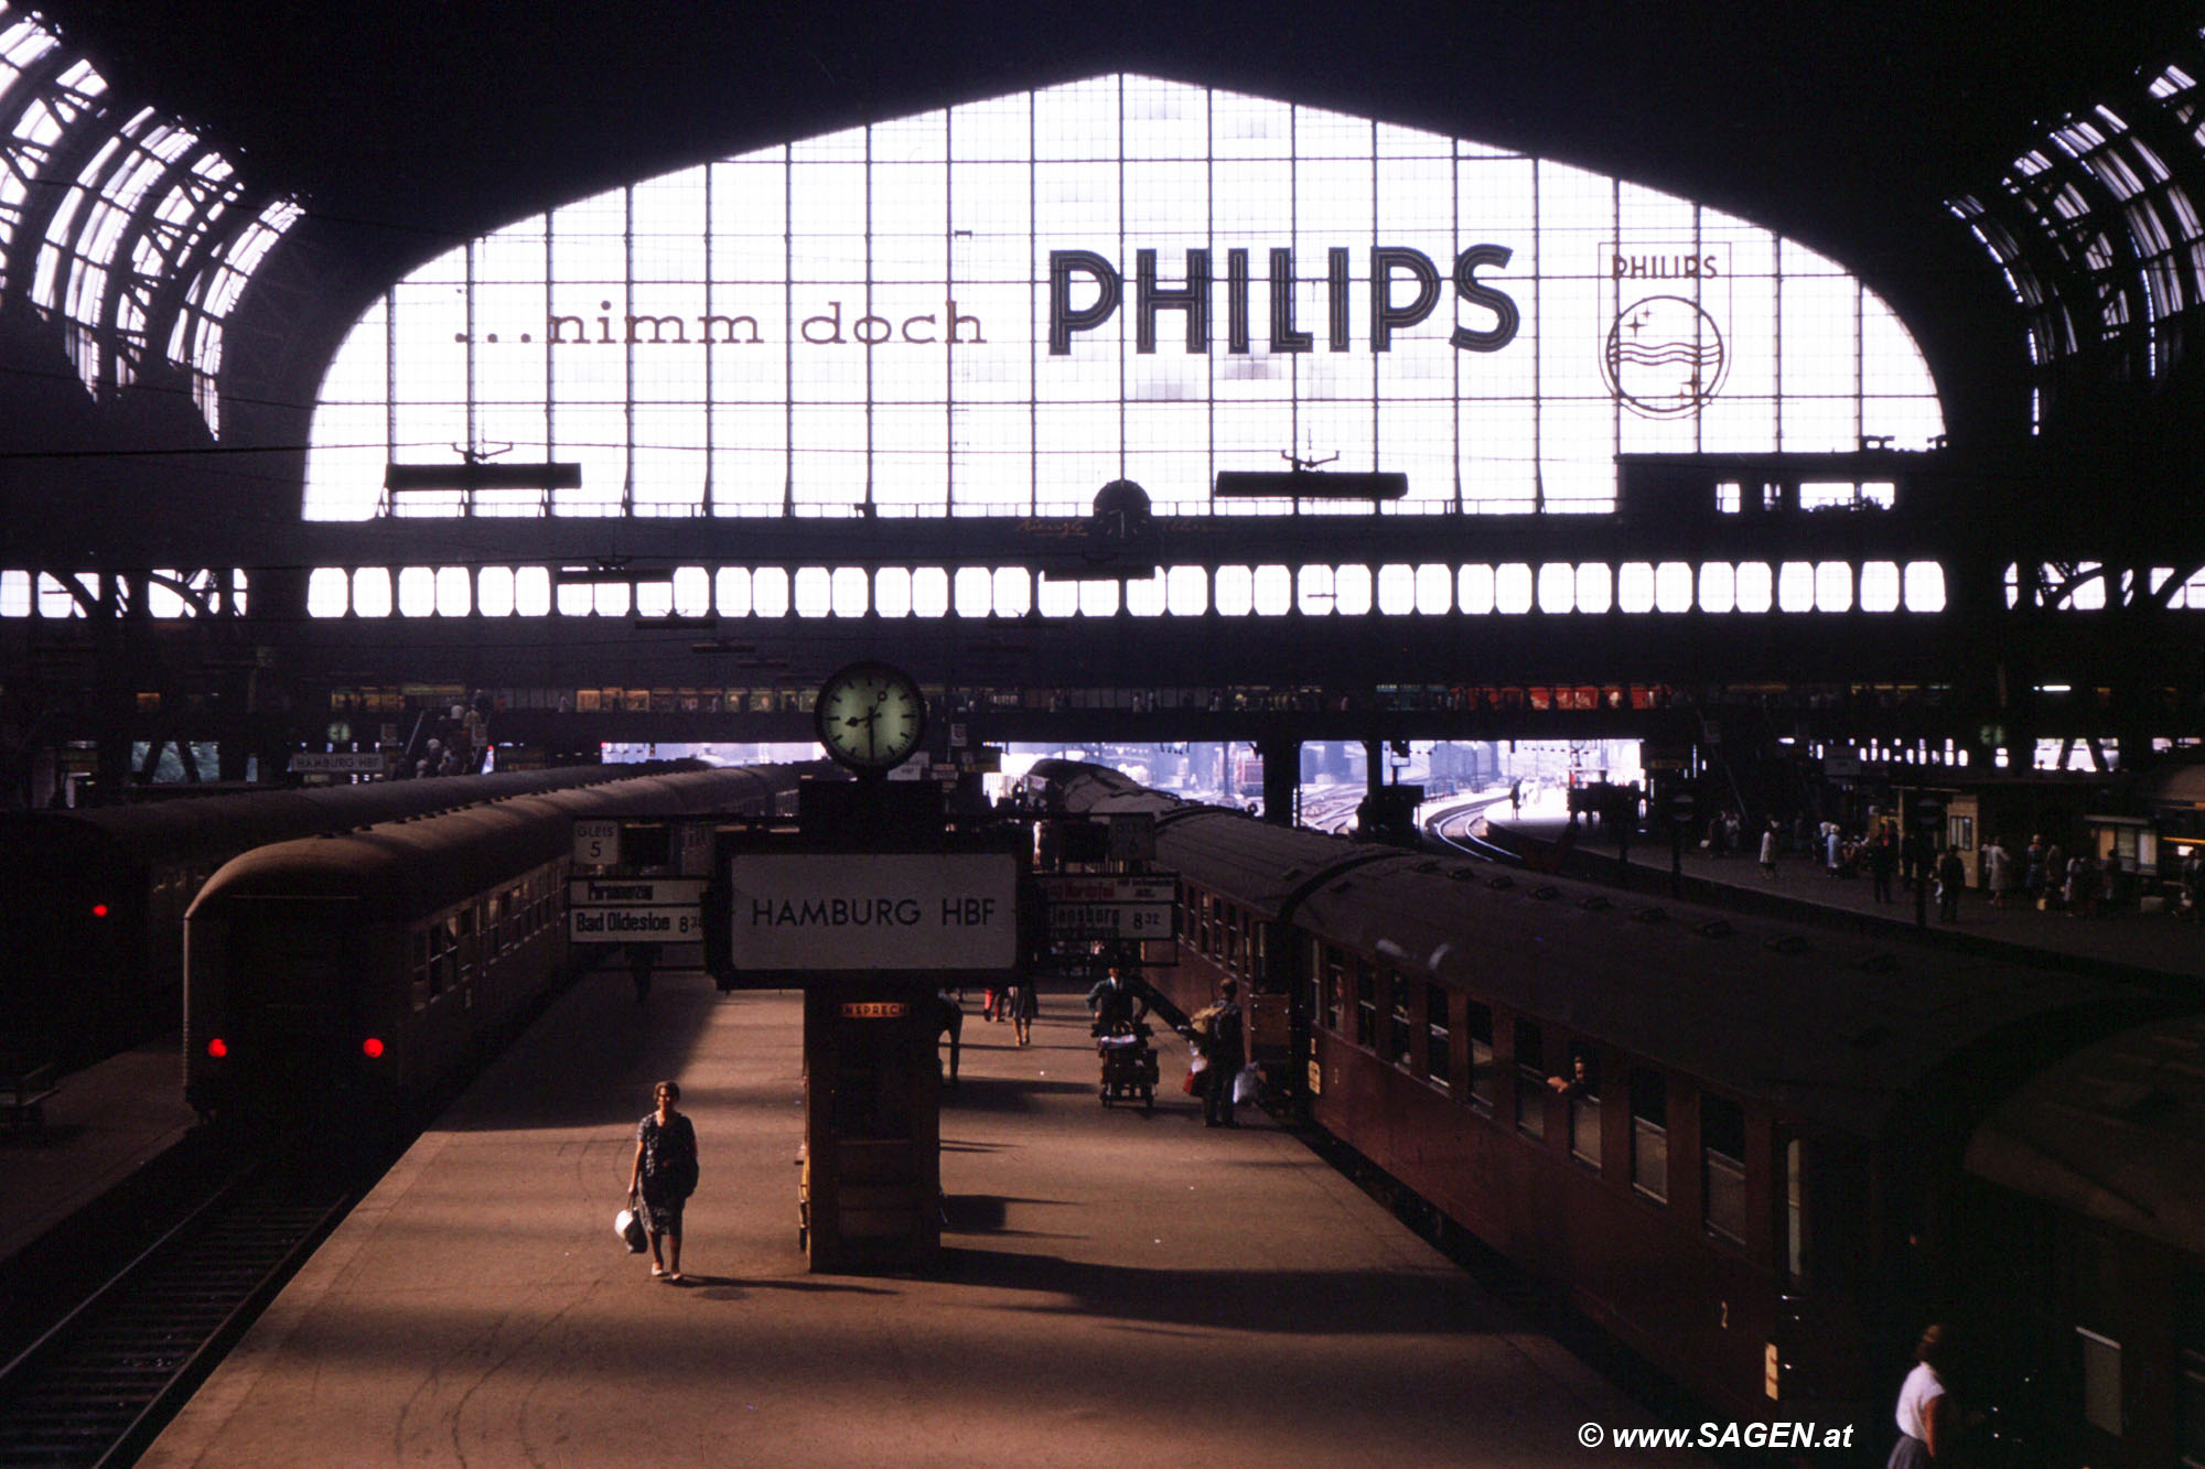
[[[143,1465],[1570,1465],[1660,1427],[1297,1136],[1102,1107],[1078,995],[964,1021],[939,1264],[796,1246],[800,997],[569,990],[324,1242]],[[650,1083],[681,1284],[613,1235]],[[1702,1462],[1638,1451],[1634,1462]]]

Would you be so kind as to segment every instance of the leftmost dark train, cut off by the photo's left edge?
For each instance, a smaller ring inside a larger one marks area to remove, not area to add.
[[[75,1063],[174,1026],[183,995],[183,911],[198,884],[240,851],[633,774],[648,770],[567,765],[157,805],[0,812],[0,931],[7,933],[0,1037]]]

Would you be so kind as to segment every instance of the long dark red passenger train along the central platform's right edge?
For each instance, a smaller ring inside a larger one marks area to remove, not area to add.
[[[1028,801],[1151,812],[1180,942],[1149,982],[1193,1010],[1237,977],[1279,1098],[1709,1405],[1850,1418],[1881,1462],[1907,1348],[1951,1315],[1996,1345],[1978,1368],[2026,1462],[2205,1462],[2196,995],[1356,845],[1067,763]]]

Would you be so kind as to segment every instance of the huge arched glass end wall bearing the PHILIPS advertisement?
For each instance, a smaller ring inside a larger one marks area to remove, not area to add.
[[[1618,452],[1943,432],[1905,326],[1795,240],[1138,75],[520,221],[397,282],[318,401],[313,518],[1085,514],[1116,479],[1208,514],[1283,457],[1407,474],[1405,512],[1603,512]],[[463,457],[580,483],[386,492]]]

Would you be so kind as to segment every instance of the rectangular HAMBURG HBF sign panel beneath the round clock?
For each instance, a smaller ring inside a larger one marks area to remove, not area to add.
[[[1012,968],[1010,854],[774,854],[728,865],[736,968]]]

